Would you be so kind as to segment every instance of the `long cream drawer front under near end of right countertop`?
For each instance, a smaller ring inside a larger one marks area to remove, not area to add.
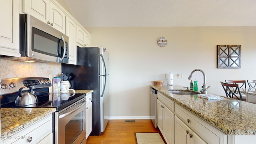
[[[227,135],[182,106],[175,104],[175,114],[208,144],[225,144]]]

